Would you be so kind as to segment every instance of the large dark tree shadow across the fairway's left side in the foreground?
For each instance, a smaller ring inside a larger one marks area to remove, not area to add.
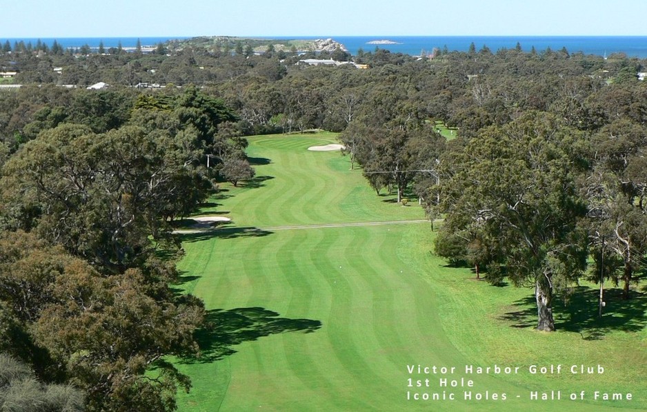
[[[183,358],[183,363],[209,363],[236,353],[242,342],[276,333],[312,333],[321,328],[319,320],[279,318],[279,313],[262,307],[214,309],[207,311],[205,325],[195,333],[199,356]]]

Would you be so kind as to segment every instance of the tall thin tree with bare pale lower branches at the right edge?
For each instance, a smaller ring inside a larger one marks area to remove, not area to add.
[[[647,267],[646,136],[646,127],[626,119],[603,127],[593,136],[592,165],[582,184],[597,256],[606,251],[620,260],[622,274],[608,275],[624,282],[624,298],[635,271]]]

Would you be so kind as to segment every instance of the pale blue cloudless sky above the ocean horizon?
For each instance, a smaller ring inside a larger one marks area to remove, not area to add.
[[[647,0],[2,0],[0,39],[647,35]]]

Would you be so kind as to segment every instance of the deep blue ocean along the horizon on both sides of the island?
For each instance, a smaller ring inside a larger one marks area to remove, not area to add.
[[[142,46],[154,46],[157,43],[163,43],[172,39],[188,39],[189,37],[74,37],[56,39],[63,48],[79,48],[88,44],[91,48],[98,48],[99,43],[103,41],[103,47],[117,47],[121,42],[124,48],[134,48],[137,40],[141,41]],[[266,37],[265,39],[333,39],[343,44],[346,49],[357,54],[359,49],[364,52],[375,51],[375,48],[389,50],[390,52],[401,52],[417,56],[424,50],[432,52],[434,48],[442,50],[447,46],[448,50],[466,52],[470,43],[474,43],[477,50],[487,45],[492,52],[501,48],[515,48],[517,43],[521,45],[524,51],[530,51],[534,46],[537,52],[551,48],[552,50],[561,50],[566,48],[568,52],[584,52],[584,54],[597,54],[599,56],[610,55],[617,52],[623,52],[629,57],[638,57],[647,59],[647,36],[640,37],[573,37],[573,36],[421,36],[421,37],[398,37],[398,36],[310,36],[310,37]],[[8,40],[11,45],[14,41],[31,42],[35,45],[39,39],[0,39],[0,44]],[[40,39],[47,45],[52,45],[54,39]],[[390,44],[372,44],[372,41],[389,41]]]

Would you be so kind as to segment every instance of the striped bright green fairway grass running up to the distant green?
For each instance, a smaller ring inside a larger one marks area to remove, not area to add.
[[[334,142],[334,134],[251,138],[255,180],[223,185],[202,211],[232,223],[185,236],[180,287],[204,300],[213,327],[198,335],[201,358],[176,362],[193,382],[179,395],[180,411],[647,409],[644,298],[612,299],[599,324],[585,288],[584,298],[555,307],[560,331],[539,333],[532,290],[492,287],[447,267],[430,253],[428,223],[286,229],[424,217],[417,204],[377,196],[339,152],[306,150]],[[462,388],[439,388],[441,375],[410,375],[408,364],[456,367],[450,380],[471,379],[468,390],[508,400],[466,401]],[[469,364],[520,371],[465,375]],[[531,364],[605,371],[530,375]],[[407,400],[416,391],[408,378],[430,378],[422,391],[457,400]],[[563,399],[632,392],[634,400],[528,400],[529,391],[550,390]]]

